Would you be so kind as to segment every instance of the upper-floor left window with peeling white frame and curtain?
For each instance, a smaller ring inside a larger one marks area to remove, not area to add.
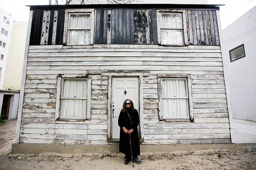
[[[67,45],[92,45],[94,28],[94,9],[80,9],[76,13],[72,9],[66,10],[68,26],[63,42]]]

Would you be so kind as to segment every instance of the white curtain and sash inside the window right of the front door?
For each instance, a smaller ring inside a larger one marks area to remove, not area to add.
[[[185,79],[163,79],[163,118],[188,118],[188,94]]]

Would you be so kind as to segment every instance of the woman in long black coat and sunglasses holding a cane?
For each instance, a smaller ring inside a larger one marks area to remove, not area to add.
[[[141,163],[141,160],[138,158],[138,155],[140,155],[138,125],[139,113],[134,109],[132,100],[126,99],[118,118],[118,126],[120,127],[119,152],[125,154],[125,165],[129,163],[131,157],[133,157],[135,163]],[[131,136],[132,154],[129,134]]]

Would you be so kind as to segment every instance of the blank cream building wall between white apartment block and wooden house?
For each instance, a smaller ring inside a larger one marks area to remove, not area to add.
[[[20,90],[28,22],[14,22],[3,89]]]

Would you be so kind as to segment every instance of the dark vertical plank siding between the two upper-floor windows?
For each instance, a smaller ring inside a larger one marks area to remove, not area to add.
[[[96,10],[94,44],[157,44],[156,10]]]

